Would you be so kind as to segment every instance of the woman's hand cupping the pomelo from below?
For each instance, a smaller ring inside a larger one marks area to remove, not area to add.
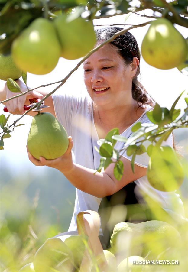
[[[28,148],[27,148],[29,160],[36,166],[46,165],[49,167],[56,168],[62,173],[70,172],[74,167],[72,152],[71,152],[73,147],[73,140],[71,136],[69,136],[68,138],[69,138],[69,146],[63,156],[53,160],[46,160],[44,157],[39,157],[40,160],[37,160],[31,155],[31,153],[28,151]]]

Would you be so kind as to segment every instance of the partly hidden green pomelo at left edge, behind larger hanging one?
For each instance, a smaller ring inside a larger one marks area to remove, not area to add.
[[[11,55],[0,54],[0,79],[7,80],[8,78],[18,79],[21,77],[20,70],[14,63]]]

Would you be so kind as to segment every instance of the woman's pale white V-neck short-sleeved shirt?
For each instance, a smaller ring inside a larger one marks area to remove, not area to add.
[[[92,99],[90,98],[89,94],[79,92],[78,95],[73,96],[71,94],[62,92],[54,93],[52,98],[57,119],[64,126],[68,135],[71,135],[73,138],[73,153],[75,156],[75,163],[90,169],[96,169],[99,167],[101,156],[94,149],[95,146],[99,148],[97,144],[99,138],[94,125],[94,109]],[[146,112],[150,109],[151,107],[147,106],[146,111],[136,122],[140,121],[141,123],[151,123],[146,115]],[[121,135],[129,138],[132,134],[131,127],[134,124],[127,128]],[[151,144],[151,142],[144,142],[146,148],[149,144]],[[123,145],[123,142],[117,142],[115,144],[115,149],[122,149]],[[172,135],[169,136],[166,142],[163,142],[163,145],[172,146]],[[131,157],[128,157],[126,152],[123,156],[128,160],[131,160]],[[149,156],[147,153],[137,155],[135,158],[135,164],[141,167],[147,168],[148,162]],[[136,180],[135,183],[136,186],[141,188],[146,194],[149,194],[149,196],[160,203],[160,206],[164,210],[170,210],[184,215],[183,203],[180,196],[175,191],[162,192],[154,189],[147,181],[147,176],[141,177],[140,179]],[[98,212],[100,202],[101,198],[97,198],[76,188],[74,212],[68,231],[77,230],[76,216],[79,212],[85,210],[93,210]]]

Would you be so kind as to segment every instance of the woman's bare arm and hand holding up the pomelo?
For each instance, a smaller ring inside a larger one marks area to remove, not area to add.
[[[31,162],[36,166],[47,165],[58,169],[76,188],[99,198],[112,195],[126,184],[146,175],[147,168],[136,164],[134,174],[131,170],[131,162],[124,157],[121,158],[124,164],[124,173],[121,181],[115,179],[113,174],[114,164],[110,164],[103,172],[97,172],[94,175],[96,170],[73,163],[72,147],[72,137],[69,136],[69,147],[66,153],[55,160],[46,160],[43,157],[40,157],[40,160],[36,160],[31,154],[28,155]]]

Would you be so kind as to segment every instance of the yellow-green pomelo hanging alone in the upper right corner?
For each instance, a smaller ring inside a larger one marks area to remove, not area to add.
[[[169,20],[152,21],[141,44],[142,56],[148,64],[171,69],[184,62],[187,52],[186,40]]]

